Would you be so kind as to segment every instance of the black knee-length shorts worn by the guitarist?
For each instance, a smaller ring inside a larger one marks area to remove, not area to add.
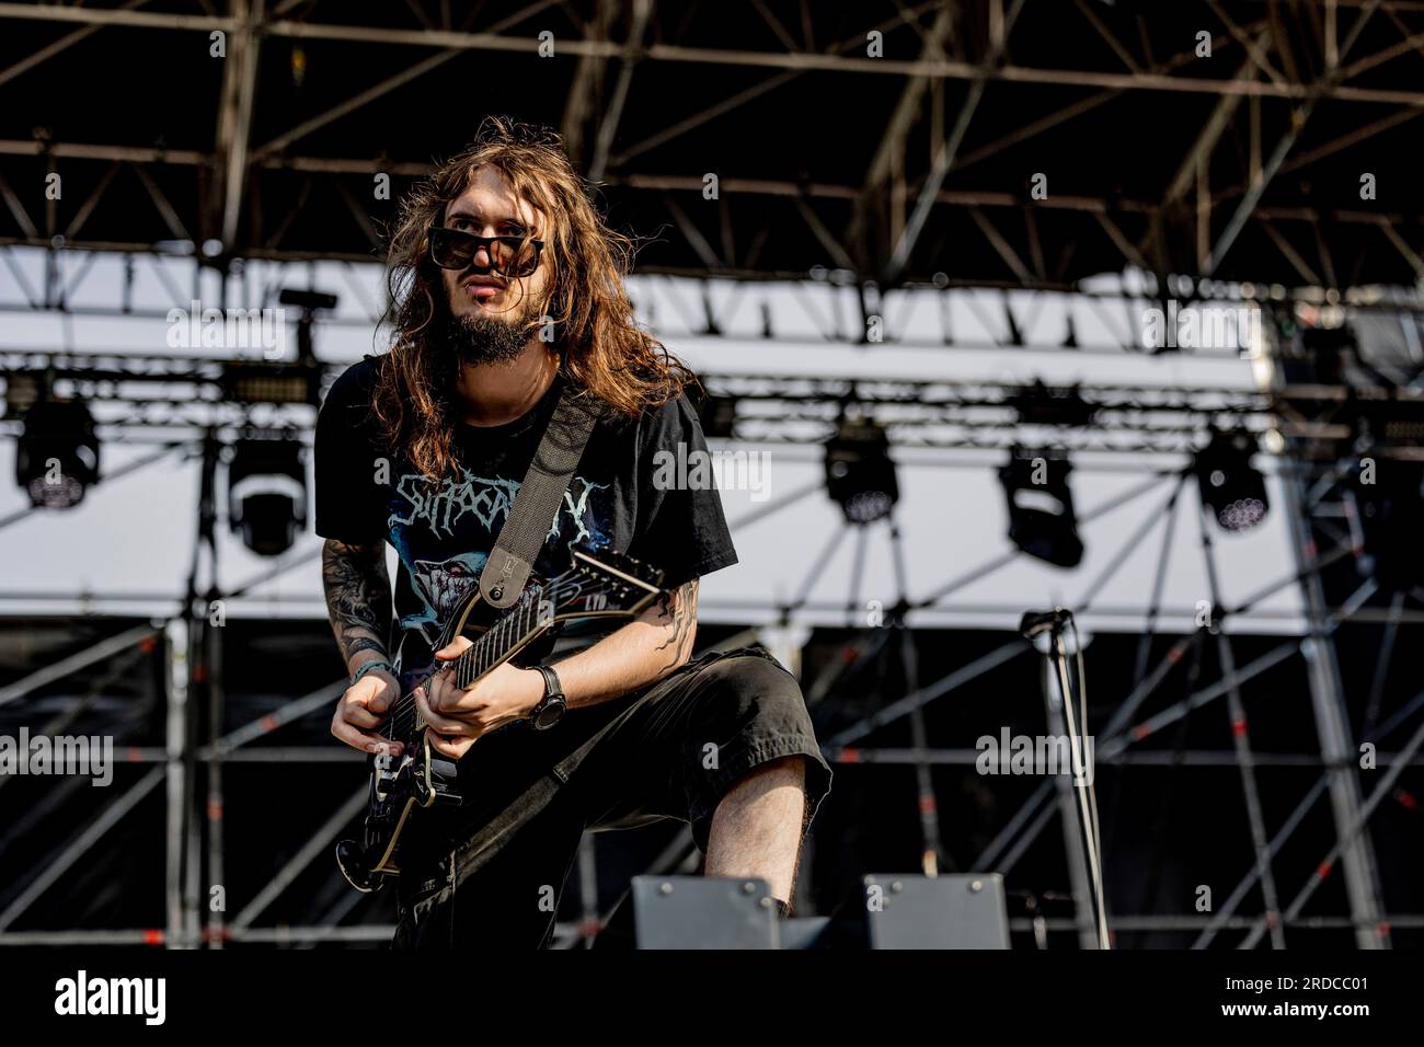
[[[750,769],[806,756],[806,823],[830,766],[796,678],[763,647],[711,652],[631,695],[513,724],[460,761],[463,806],[420,812],[402,850],[403,947],[541,947],[585,829],[664,818],[706,850],[712,813]]]

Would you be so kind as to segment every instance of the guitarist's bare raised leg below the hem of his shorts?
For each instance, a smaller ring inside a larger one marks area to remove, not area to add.
[[[805,756],[753,768],[712,815],[705,873],[760,877],[773,897],[790,905],[805,818]]]

